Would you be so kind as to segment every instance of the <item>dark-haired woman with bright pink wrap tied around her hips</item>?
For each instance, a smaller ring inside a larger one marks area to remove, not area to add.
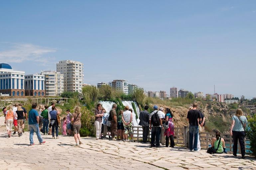
[[[170,138],[170,147],[174,147],[174,123],[173,123],[173,114],[169,108],[165,109],[165,125],[168,125],[168,128],[165,129],[165,146],[168,147],[169,145],[169,138]]]

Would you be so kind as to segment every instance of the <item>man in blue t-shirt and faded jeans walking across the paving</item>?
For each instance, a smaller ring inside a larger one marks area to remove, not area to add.
[[[32,110],[29,111],[29,130],[30,130],[30,134],[29,134],[29,140],[30,140],[30,146],[35,145],[34,141],[33,141],[33,135],[34,135],[34,131],[37,134],[37,138],[39,140],[40,144],[45,143],[45,141],[43,141],[40,131],[39,131],[39,115],[38,112],[36,110],[37,108],[37,103],[33,103],[32,104]]]

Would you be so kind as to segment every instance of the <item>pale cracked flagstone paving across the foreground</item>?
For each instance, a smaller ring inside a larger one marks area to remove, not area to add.
[[[22,137],[8,138],[1,130],[0,169],[208,169],[208,170],[247,170],[256,169],[256,160],[240,160],[230,154],[210,155],[206,150],[190,152],[186,148],[150,148],[140,142],[95,140],[83,137],[83,144],[74,146],[73,137],[60,136],[52,139],[42,135],[46,144],[29,146],[29,132]]]

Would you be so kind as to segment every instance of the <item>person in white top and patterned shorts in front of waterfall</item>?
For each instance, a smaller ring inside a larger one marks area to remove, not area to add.
[[[125,106],[123,113],[123,125],[124,125],[124,138],[125,141],[128,141],[128,132],[131,135],[133,142],[133,131],[132,131],[132,112],[129,111],[129,107]]]

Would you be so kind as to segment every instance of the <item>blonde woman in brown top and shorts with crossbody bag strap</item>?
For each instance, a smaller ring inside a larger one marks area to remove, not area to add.
[[[75,145],[80,145],[82,144],[79,130],[81,128],[81,109],[79,106],[75,106],[74,113],[72,114],[72,125],[71,125],[71,130],[74,132],[74,138],[75,138]]]

